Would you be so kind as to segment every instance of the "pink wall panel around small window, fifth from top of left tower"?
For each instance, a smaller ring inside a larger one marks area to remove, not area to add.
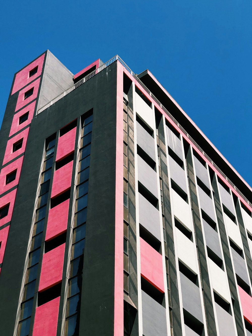
[[[17,185],[21,173],[23,159],[24,156],[10,163],[8,166],[2,168],[0,173],[0,195]],[[16,170],[16,178],[12,182],[6,184],[6,175],[10,174],[14,170]]]

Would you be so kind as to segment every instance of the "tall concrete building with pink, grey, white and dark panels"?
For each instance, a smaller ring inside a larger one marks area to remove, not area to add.
[[[148,71],[14,75],[2,336],[251,336],[252,189]]]

